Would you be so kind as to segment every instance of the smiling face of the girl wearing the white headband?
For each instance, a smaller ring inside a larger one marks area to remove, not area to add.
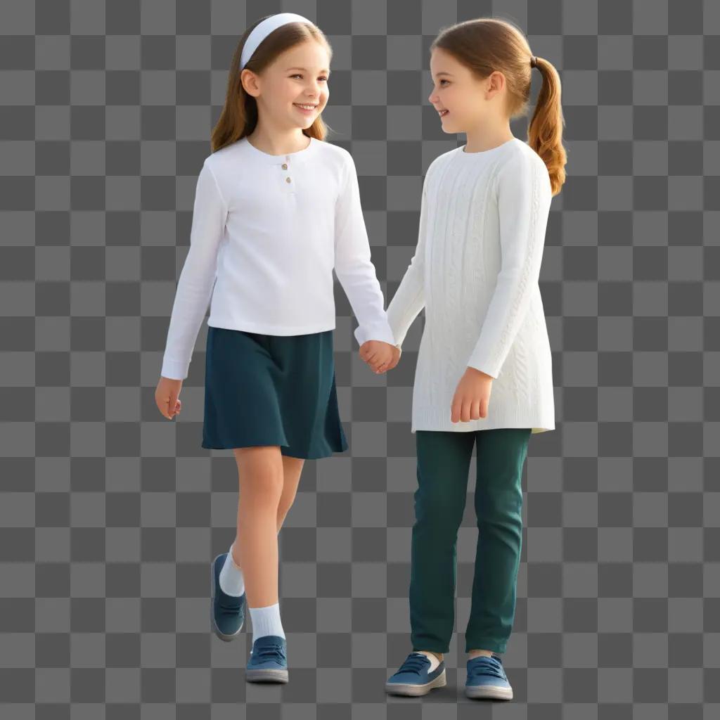
[[[305,129],[315,122],[328,104],[329,76],[328,50],[315,40],[278,55],[261,75],[248,70],[242,73],[243,86],[255,97],[258,112],[284,130]]]

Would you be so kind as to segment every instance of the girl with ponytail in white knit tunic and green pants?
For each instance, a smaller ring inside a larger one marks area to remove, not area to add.
[[[418,247],[387,307],[398,345],[423,307],[425,326],[413,387],[413,652],[385,687],[416,696],[446,684],[456,539],[477,447],[465,693],[508,700],[513,688],[498,655],[515,613],[523,464],[531,434],[555,427],[539,273],[550,202],[565,179],[560,81],[500,19],[455,24],[430,52],[428,99],[443,131],[463,132],[467,143],[426,171]],[[527,111],[532,68],[541,87],[525,143],[510,120]],[[398,349],[391,368],[399,357]]]

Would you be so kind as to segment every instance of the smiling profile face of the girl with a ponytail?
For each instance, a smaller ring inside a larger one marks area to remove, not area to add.
[[[479,80],[441,48],[433,50],[430,71],[434,84],[428,100],[440,113],[444,132],[467,132],[482,125],[490,110],[487,101],[498,99],[505,86],[502,73]]]

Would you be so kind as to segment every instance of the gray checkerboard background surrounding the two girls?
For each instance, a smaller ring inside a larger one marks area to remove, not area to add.
[[[0,8],[0,717],[720,716],[720,4]],[[423,316],[375,376],[337,284],[351,449],[307,462],[280,535],[289,685],[246,685],[249,621],[232,644],[210,633],[209,563],[233,539],[238,481],[229,451],[200,447],[207,325],[181,417],[164,420],[153,392],[231,53],[283,10],[333,45],[329,140],[355,158],[386,299],[414,251],[423,174],[464,142],[428,103],[438,30],[512,19],[562,75],[568,181],[541,272],[557,429],[532,438],[523,475],[511,703],[463,694],[472,502],[449,684],[384,694],[410,649]]]

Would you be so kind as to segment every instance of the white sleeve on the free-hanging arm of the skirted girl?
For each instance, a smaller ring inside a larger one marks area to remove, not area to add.
[[[161,375],[182,380],[188,375],[197,333],[215,286],[217,251],[228,207],[207,161],[197,178],[190,248],[180,274],[168,325]]]

